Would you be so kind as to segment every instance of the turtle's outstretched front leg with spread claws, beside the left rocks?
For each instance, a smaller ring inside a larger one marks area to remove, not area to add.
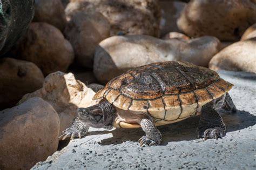
[[[74,137],[81,138],[85,136],[88,130],[89,126],[84,125],[78,117],[75,117],[72,125],[69,128],[66,128],[59,138],[62,138],[62,140],[65,140],[67,137],[70,137],[70,139],[73,139]]]

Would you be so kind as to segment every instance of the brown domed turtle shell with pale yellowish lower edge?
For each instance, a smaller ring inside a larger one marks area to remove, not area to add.
[[[93,99],[106,98],[122,110],[147,112],[156,125],[173,123],[197,113],[233,85],[217,72],[188,62],[152,63],[113,78]]]

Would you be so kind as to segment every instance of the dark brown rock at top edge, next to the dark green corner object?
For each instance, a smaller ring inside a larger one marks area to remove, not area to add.
[[[64,7],[60,0],[35,0],[33,22],[45,22],[56,26],[60,31],[66,25]]]

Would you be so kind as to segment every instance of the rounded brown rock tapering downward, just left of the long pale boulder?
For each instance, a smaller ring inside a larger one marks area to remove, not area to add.
[[[96,46],[110,36],[110,23],[99,12],[77,12],[70,18],[64,34],[73,46],[77,63],[92,67]]]

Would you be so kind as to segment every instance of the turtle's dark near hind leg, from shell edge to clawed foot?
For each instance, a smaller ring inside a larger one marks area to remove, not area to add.
[[[220,114],[215,110],[216,100],[205,104],[201,109],[201,118],[197,129],[198,138],[222,138],[226,135],[226,126]]]

